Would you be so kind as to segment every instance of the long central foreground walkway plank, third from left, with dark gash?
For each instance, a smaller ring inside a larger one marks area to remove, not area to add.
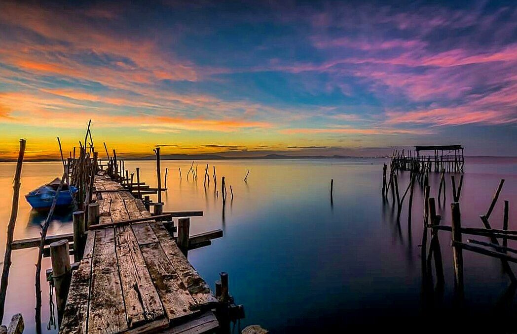
[[[129,328],[163,317],[160,297],[130,226],[116,228],[116,251]]]

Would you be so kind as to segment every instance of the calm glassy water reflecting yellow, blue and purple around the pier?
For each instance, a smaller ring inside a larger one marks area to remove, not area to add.
[[[450,234],[440,233],[445,294],[436,298],[434,310],[422,302],[420,244],[422,240],[422,190],[415,187],[412,224],[407,223],[407,204],[400,224],[396,209],[381,197],[384,159],[243,160],[200,161],[199,179],[187,181],[191,162],[163,161],[169,168],[165,211],[203,210],[191,219],[191,234],[221,228],[224,237],[212,245],[189,252],[189,259],[213,286],[220,271],[230,274],[230,293],[245,306],[241,327],[261,324],[271,332],[327,332],[332,326],[362,329],[420,329],[415,324],[441,326],[451,315],[453,272]],[[214,182],[203,187],[206,163],[216,166]],[[499,179],[506,179],[491,224],[501,228],[503,199],[510,200],[510,229],[517,229],[517,159],[467,158],[461,196],[463,226],[482,227]],[[194,164],[195,166],[195,164]],[[156,185],[154,162],[126,162],[127,169],[141,167],[141,179]],[[178,167],[183,173],[179,180]],[[0,252],[5,249],[14,164],[0,164]],[[243,179],[250,169],[248,181]],[[25,163],[21,193],[61,175],[60,163]],[[223,207],[220,178],[232,185]],[[400,175],[405,189],[408,173]],[[436,196],[439,175],[431,175],[431,195]],[[334,179],[333,204],[330,179]],[[452,198],[447,179],[446,205],[438,208],[442,224],[450,225]],[[403,192],[403,191],[402,191]],[[45,216],[35,214],[20,198],[15,239],[39,236]],[[72,230],[70,216],[62,214],[49,234]],[[482,239],[481,239],[482,240]],[[517,244],[510,243],[510,246]],[[36,250],[13,252],[4,323],[21,312],[26,332],[34,332],[34,272]],[[3,259],[3,257],[2,257]],[[484,325],[491,317],[515,314],[517,307],[501,301],[508,279],[499,260],[464,253],[465,310],[462,327]],[[50,268],[43,260],[43,268]],[[514,267],[515,270],[517,268]],[[44,280],[44,278],[43,278]],[[43,284],[43,323],[48,321],[48,283]],[[426,315],[427,314],[427,315]],[[432,321],[429,321],[432,317]],[[510,320],[511,318],[506,318]],[[512,323],[512,322],[510,322]],[[445,326],[445,325],[444,325]],[[479,327],[477,327],[479,328]]]

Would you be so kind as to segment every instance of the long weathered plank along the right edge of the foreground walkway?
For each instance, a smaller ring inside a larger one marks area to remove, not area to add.
[[[187,258],[179,250],[176,243],[171,239],[168,231],[163,224],[151,223],[155,235],[161,243],[161,246],[178,274],[179,279],[194,299],[195,308],[204,308],[218,304],[217,298],[210,292],[210,287],[205,280],[201,278],[199,273],[188,262]]]

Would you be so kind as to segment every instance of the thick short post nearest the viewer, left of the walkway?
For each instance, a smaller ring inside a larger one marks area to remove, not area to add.
[[[68,240],[63,239],[50,244],[52,260],[52,279],[56,289],[57,322],[61,323],[65,310],[68,288],[70,287],[71,266],[68,250]]]

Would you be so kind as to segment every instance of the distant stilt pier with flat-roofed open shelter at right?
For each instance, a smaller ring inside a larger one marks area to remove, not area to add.
[[[431,154],[422,154],[432,152]],[[393,152],[391,167],[398,170],[465,171],[465,157],[461,145],[416,146],[415,150]]]

